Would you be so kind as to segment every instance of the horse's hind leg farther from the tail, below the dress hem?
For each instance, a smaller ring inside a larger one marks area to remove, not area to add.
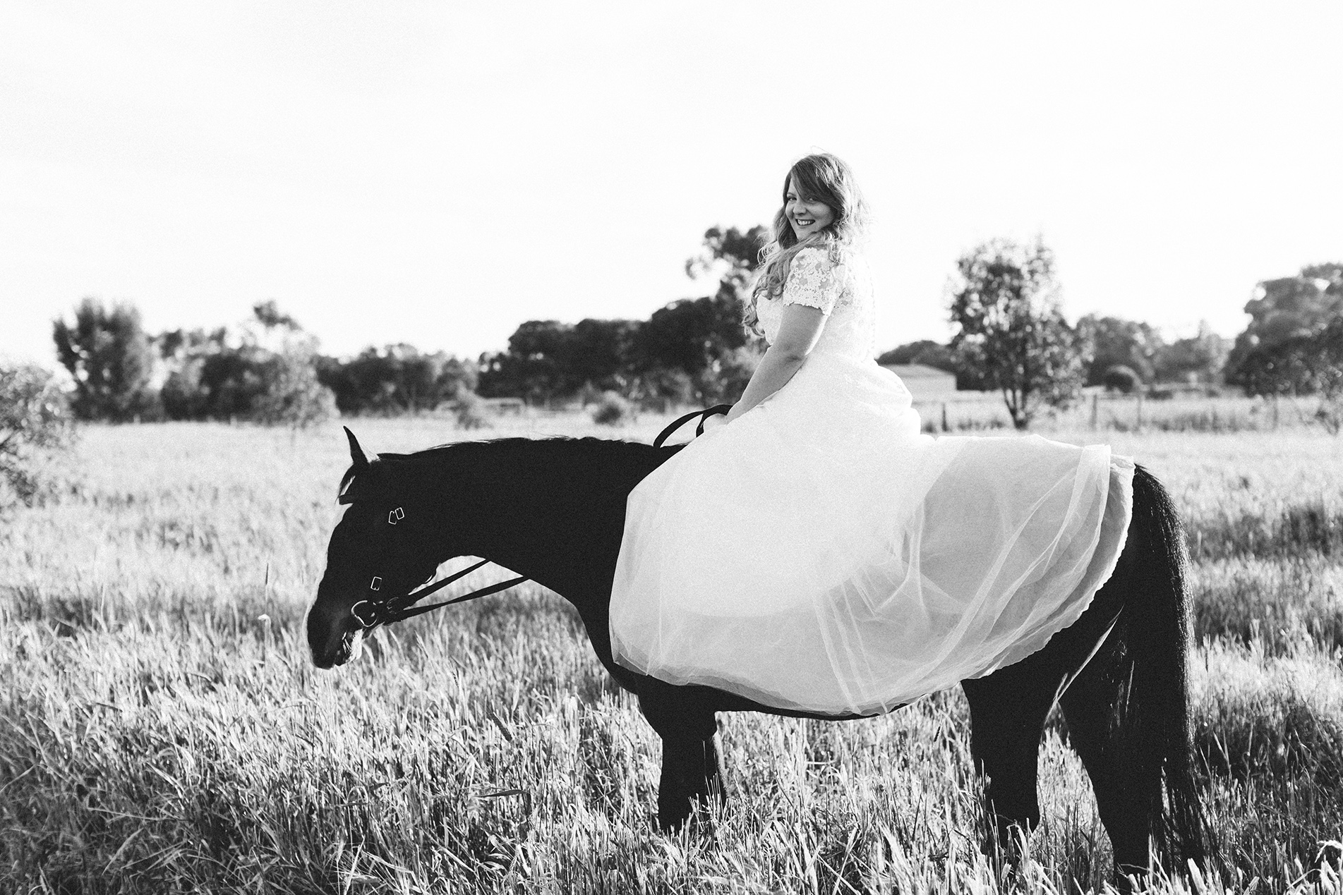
[[[1007,849],[1017,839],[1014,827],[1029,833],[1039,823],[1039,741],[1062,679],[1061,672],[1050,674],[1048,664],[1027,659],[987,678],[960,682],[970,702],[970,754],[987,777],[990,833]]]

